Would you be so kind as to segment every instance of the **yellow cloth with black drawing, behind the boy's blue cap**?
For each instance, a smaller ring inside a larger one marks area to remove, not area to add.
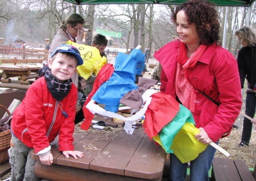
[[[87,80],[93,73],[97,75],[102,66],[107,64],[107,58],[101,57],[97,48],[78,44],[70,40],[67,41],[67,44],[79,49],[84,64],[77,66],[77,70],[79,75],[84,77],[84,79]]]

